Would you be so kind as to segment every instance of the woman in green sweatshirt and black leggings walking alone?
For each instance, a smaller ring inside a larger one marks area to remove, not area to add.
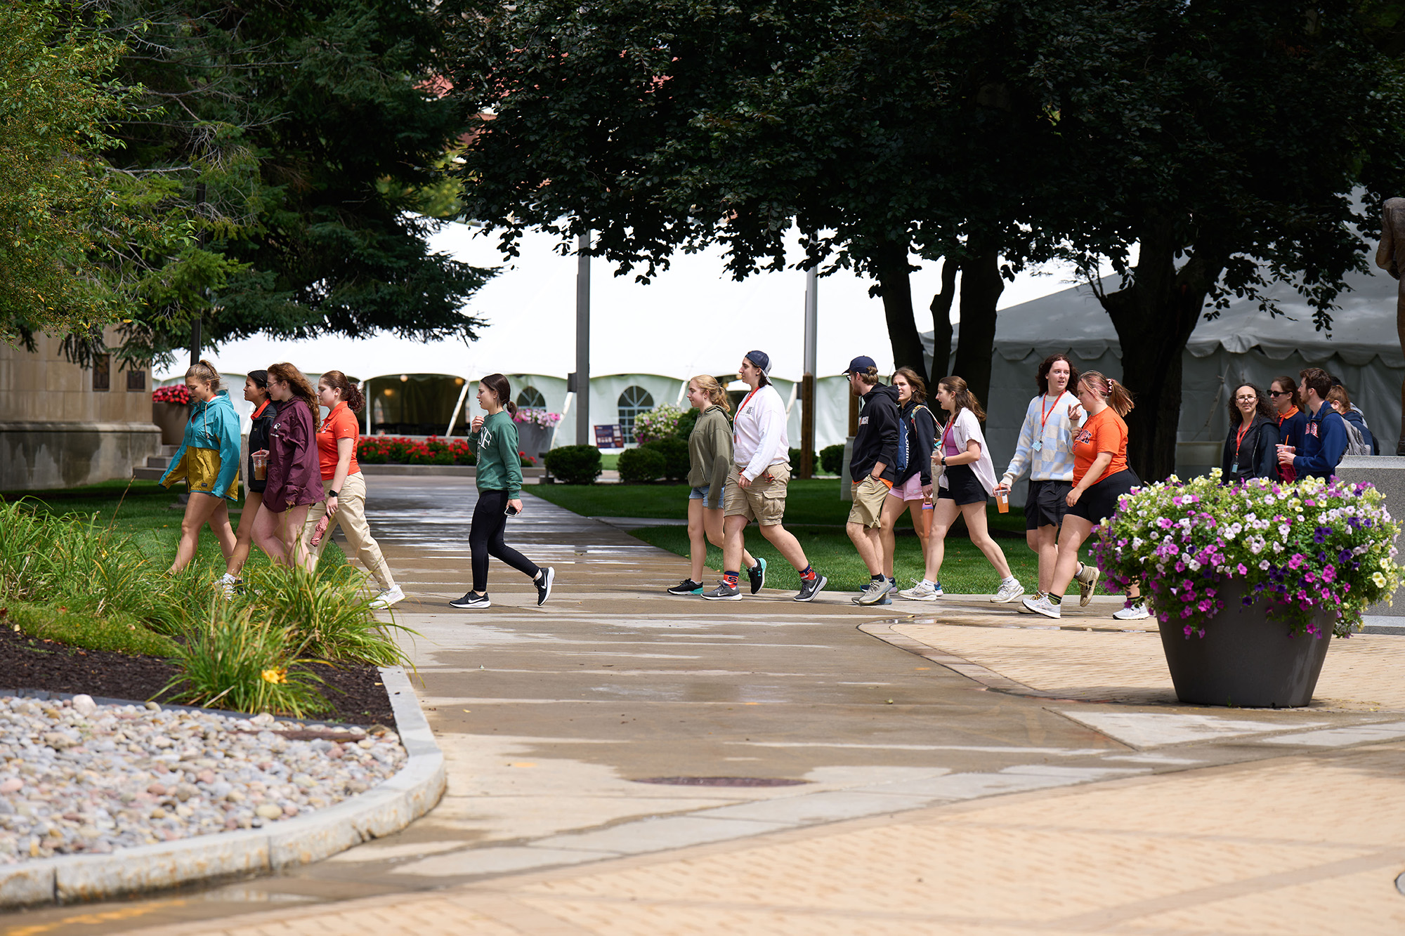
[[[485,609],[488,597],[488,557],[513,566],[531,579],[537,587],[538,607],[551,597],[556,569],[545,569],[524,557],[503,540],[507,517],[523,512],[523,462],[517,450],[517,423],[507,412],[513,389],[502,374],[489,374],[478,382],[478,405],[488,416],[475,416],[468,447],[478,455],[478,503],[468,531],[472,555],[473,585],[450,607]]]

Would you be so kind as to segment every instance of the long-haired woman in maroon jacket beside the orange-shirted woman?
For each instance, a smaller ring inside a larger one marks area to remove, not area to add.
[[[322,469],[318,465],[318,398],[292,364],[268,365],[268,398],[278,401],[278,416],[268,431],[268,482],[254,517],[254,542],[274,564],[312,571],[312,557],[302,544],[308,507],[322,502]],[[291,401],[291,402],[289,402]]]

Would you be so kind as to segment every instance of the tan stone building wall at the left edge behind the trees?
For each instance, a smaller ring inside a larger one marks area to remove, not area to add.
[[[150,368],[79,367],[59,339],[35,343],[32,353],[0,344],[0,490],[129,478],[160,448]]]

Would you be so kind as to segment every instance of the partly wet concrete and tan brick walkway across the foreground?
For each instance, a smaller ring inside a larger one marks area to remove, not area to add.
[[[1405,930],[1399,638],[1338,642],[1308,710],[1186,707],[1116,597],[1055,630],[981,596],[676,599],[683,559],[535,499],[509,542],[552,600],[495,562],[493,609],[455,611],[471,486],[372,482],[443,804],[295,873],[6,932]]]

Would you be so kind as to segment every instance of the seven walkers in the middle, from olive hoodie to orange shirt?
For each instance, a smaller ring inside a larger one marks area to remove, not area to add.
[[[688,381],[688,402],[701,410],[688,437],[688,540],[691,573],[669,589],[670,594],[701,594],[708,600],[742,597],[746,571],[752,594],[766,583],[766,561],[745,550],[746,526],[756,520],[762,535],[799,573],[797,602],[808,602],[825,587],[795,537],[785,531],[785,488],[790,481],[790,443],[785,408],[770,384],[770,357],[749,351],[739,377],[749,392],[731,426],[731,403],[718,381],[698,375]],[[941,562],[946,538],[957,517],[971,541],[1000,575],[992,602],[1023,597],[1023,607],[1045,617],[1059,617],[1062,594],[1078,582],[1080,603],[1087,604],[1099,571],[1083,565],[1078,551],[1093,527],[1117,509],[1117,500],[1139,479],[1127,465],[1127,423],[1132,409],[1124,386],[1102,374],[1079,374],[1064,354],[1040,365],[1040,388],[1028,406],[1020,441],[1005,475],[996,481],[989,447],[981,431],[985,413],[967,382],[944,377],[934,402],[941,417],[926,405],[922,375],[899,368],[891,384],[880,379],[870,357],[856,357],[844,371],[850,392],[863,399],[858,431],[849,462],[853,507],[846,531],[870,580],[854,596],[856,604],[889,604],[892,593],[916,602],[943,594]],[[1016,576],[1000,544],[986,526],[991,496],[1007,496],[1014,481],[1030,475],[1026,500],[1026,541],[1038,555],[1038,587],[1033,596]],[[913,587],[898,590],[894,578],[895,526],[912,514],[922,544],[924,572]],[[707,545],[722,547],[724,575],[705,590],[702,568]],[[1121,620],[1148,617],[1134,592]]]

